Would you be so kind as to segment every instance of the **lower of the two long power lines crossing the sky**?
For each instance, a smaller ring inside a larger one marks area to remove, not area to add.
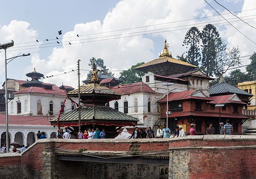
[[[254,15],[249,15],[249,16],[243,16],[241,18],[245,18],[245,17],[252,17],[252,16],[255,16],[256,14]],[[233,20],[233,19],[236,19],[236,18],[230,18],[228,20]],[[255,18],[252,18],[252,19],[255,19]],[[245,19],[245,20],[250,20],[250,19]],[[166,30],[166,29],[174,29],[174,28],[179,28],[179,27],[186,27],[186,26],[194,26],[194,25],[199,25],[199,24],[208,24],[208,23],[212,23],[212,22],[218,22],[218,21],[225,21],[225,20],[216,20],[216,21],[208,21],[208,22],[200,22],[200,23],[194,23],[194,24],[188,24],[188,25],[181,25],[181,26],[175,26],[175,27],[166,27],[166,28],[161,28],[161,29],[153,29],[153,30],[147,30],[147,31],[140,31],[140,32],[129,32],[129,33],[125,33],[125,34],[114,34],[114,35],[107,35],[107,36],[102,36],[102,37],[91,37],[91,38],[86,38],[86,39],[76,39],[76,40],[71,40],[71,41],[64,41],[64,42],[59,42],[59,43],[62,43],[62,44],[59,44],[57,45],[56,42],[51,42],[51,43],[44,43],[44,44],[35,44],[35,45],[25,45],[25,46],[19,46],[19,47],[11,47],[10,49],[17,49],[17,48],[23,48],[23,47],[34,47],[34,46],[38,46],[38,45],[41,45],[39,47],[35,47],[35,48],[44,48],[42,45],[50,45],[50,44],[56,44],[54,46],[61,46],[61,45],[70,45],[69,42],[77,42],[79,41],[78,43],[82,43],[81,41],[85,41],[85,40],[93,40],[93,39],[99,39],[98,41],[100,41],[100,38],[106,38],[106,37],[115,37],[115,36],[123,36],[123,35],[128,35],[128,34],[136,34],[136,33],[143,33],[143,32],[152,32],[152,31],[161,31],[161,30]],[[232,22],[235,22],[235,21],[232,21]],[[222,23],[227,23],[227,22],[222,22]],[[215,24],[221,24],[221,23],[215,23]],[[203,25],[205,26],[205,25]],[[198,26],[198,27],[203,27],[203,26]],[[176,29],[176,30],[169,30],[169,31],[177,31],[177,30],[184,30],[184,29],[187,29],[187,28],[183,28],[183,29]],[[164,31],[165,32],[165,31]],[[157,33],[157,32],[155,32]],[[161,32],[159,32],[161,33]],[[147,33],[147,34],[151,34],[151,33]],[[147,35],[146,34],[146,35]],[[144,34],[138,34],[138,35],[135,35],[135,36],[139,36],[139,35],[144,35]],[[132,36],[131,36],[132,37]],[[119,38],[122,38],[122,37],[119,37]],[[67,42],[67,44],[65,44]],[[90,42],[90,41],[89,41]],[[92,42],[95,42],[95,41],[92,41]],[[77,44],[77,43],[72,43],[72,44]],[[48,46],[48,47],[52,47],[51,46]],[[28,49],[31,49],[31,48],[28,48]],[[17,50],[26,50],[26,49],[17,49]],[[9,50],[9,51],[15,51],[15,50]]]

